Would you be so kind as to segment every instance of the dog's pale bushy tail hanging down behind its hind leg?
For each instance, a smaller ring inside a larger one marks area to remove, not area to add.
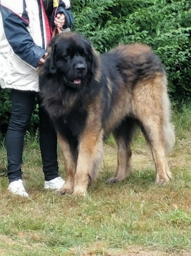
[[[163,116],[164,116],[164,142],[166,147],[166,152],[172,149],[175,144],[175,131],[174,125],[170,122],[171,118],[171,108],[170,108],[170,100],[167,93],[167,81],[165,81],[166,89],[164,90],[162,100],[163,100]]]

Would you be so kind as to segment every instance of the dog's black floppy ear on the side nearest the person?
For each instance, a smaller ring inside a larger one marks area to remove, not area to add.
[[[56,44],[54,44],[50,50],[49,56],[45,61],[45,72],[50,74],[55,74],[57,71],[56,66]]]

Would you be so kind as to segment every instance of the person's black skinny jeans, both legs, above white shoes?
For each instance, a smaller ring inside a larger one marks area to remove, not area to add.
[[[11,91],[11,118],[6,133],[8,178],[10,182],[22,178],[21,165],[24,136],[29,127],[36,96],[39,104],[40,151],[45,180],[49,181],[59,176],[56,132],[49,119],[48,113],[46,113],[41,106],[38,93],[13,89]]]

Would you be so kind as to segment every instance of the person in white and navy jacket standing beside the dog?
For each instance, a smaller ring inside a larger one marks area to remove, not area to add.
[[[22,181],[24,136],[35,104],[39,104],[40,151],[46,189],[59,189],[57,137],[38,91],[38,66],[45,62],[46,47],[55,26],[70,28],[69,0],[0,0],[0,85],[11,89],[11,118],[6,133],[8,190],[28,197]]]

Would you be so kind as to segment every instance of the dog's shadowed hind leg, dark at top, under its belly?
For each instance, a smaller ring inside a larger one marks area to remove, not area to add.
[[[132,118],[126,118],[113,132],[118,146],[118,164],[113,177],[107,179],[106,183],[116,183],[129,177],[131,172],[131,141],[137,123]]]

